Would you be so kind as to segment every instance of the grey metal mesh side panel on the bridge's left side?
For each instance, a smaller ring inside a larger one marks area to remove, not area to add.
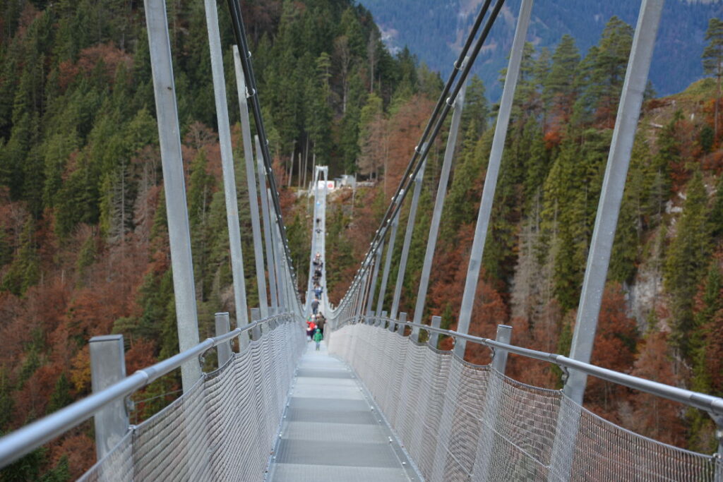
[[[291,316],[134,427],[81,481],[264,478],[304,332]]]

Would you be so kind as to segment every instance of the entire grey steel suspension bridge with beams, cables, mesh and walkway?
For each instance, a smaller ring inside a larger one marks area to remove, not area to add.
[[[429,324],[422,317],[465,82],[505,0],[492,3],[481,5],[380,228],[348,292],[333,306],[325,289],[328,192],[320,187],[326,183],[319,182],[328,180],[328,169],[315,168],[309,257],[315,259],[318,253],[322,263],[309,268],[302,301],[239,3],[228,0],[238,45],[236,87],[260,295],[260,306],[249,309],[218,12],[215,1],[205,0],[237,314],[233,330],[228,313],[216,314],[216,336],[201,341],[166,5],[145,0],[180,353],[127,376],[122,336],[94,337],[93,395],[0,439],[0,465],[93,418],[98,461],[82,475],[83,481],[723,481],[723,399],[589,363],[663,0],[641,1],[569,356],[513,345],[511,328],[505,325],[498,327],[495,339],[469,335],[532,0],[522,0],[518,12],[457,329],[441,329],[439,317]],[[399,311],[401,288],[425,162],[450,113],[414,318],[407,320]],[[390,250],[405,203],[409,214],[401,259],[396,280],[390,280]],[[317,309],[328,319],[318,351],[304,335],[312,300],[319,294],[314,279],[322,288]],[[393,281],[393,301],[385,306]],[[452,338],[453,350],[437,349],[440,335]],[[466,362],[469,343],[492,350],[492,363]],[[211,350],[218,363],[204,372],[204,357]],[[547,390],[505,376],[508,353],[559,366],[564,388]],[[142,423],[130,424],[129,395],[176,369],[181,370],[183,394]],[[690,452],[595,416],[582,405],[587,376],[705,410],[719,427],[718,452]]]

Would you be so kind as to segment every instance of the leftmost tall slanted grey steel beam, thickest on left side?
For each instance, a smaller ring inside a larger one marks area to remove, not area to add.
[[[166,2],[144,0],[145,20],[150,48],[150,68],[153,73],[155,112],[158,118],[158,141],[161,145],[163,186],[166,192],[168,244],[171,246],[171,267],[174,277],[176,324],[181,352],[198,345],[198,314],[191,259],[191,232],[186,202],[186,184],[181,155],[176,86],[171,65],[171,41],[168,37]],[[201,367],[195,361],[181,366],[184,392],[201,377]]]

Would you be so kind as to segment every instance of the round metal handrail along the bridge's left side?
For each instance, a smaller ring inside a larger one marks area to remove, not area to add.
[[[281,320],[279,320],[280,318]],[[133,392],[142,389],[161,376],[180,368],[186,361],[201,356],[211,348],[232,340],[244,332],[253,330],[255,327],[260,327],[262,324],[276,321],[293,322],[293,318],[293,313],[282,313],[251,322],[244,327],[236,328],[217,337],[206,338],[193,348],[189,348],[189,350],[171,356],[171,358],[166,358],[166,360],[159,361],[146,369],[138,370],[120,382],[116,382],[110,387],[100,390],[100,392],[88,395],[82,400],[78,400],[65,408],[61,408],[51,415],[40,418],[40,420],[30,423],[21,429],[17,429],[0,438],[0,467],[14,462],[46,442],[50,442],[56,436],[64,434],[64,432],[80,425],[80,423],[95,415],[98,410],[106,405],[131,395]]]

